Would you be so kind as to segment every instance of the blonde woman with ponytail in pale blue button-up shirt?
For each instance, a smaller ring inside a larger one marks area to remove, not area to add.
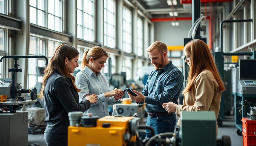
[[[87,95],[98,95],[97,103],[91,104],[84,114],[92,113],[100,118],[109,115],[108,105],[114,105],[124,95],[121,89],[110,90],[106,76],[101,73],[108,53],[101,47],[93,47],[83,53],[81,71],[76,75],[75,85],[82,91],[79,100],[83,101]]]

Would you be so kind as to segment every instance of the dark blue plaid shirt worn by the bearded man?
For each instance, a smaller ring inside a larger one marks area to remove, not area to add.
[[[146,111],[166,112],[162,107],[163,103],[173,102],[178,104],[177,100],[182,86],[182,72],[171,61],[162,69],[152,71],[141,92],[146,96]],[[138,104],[143,103],[139,102]]]

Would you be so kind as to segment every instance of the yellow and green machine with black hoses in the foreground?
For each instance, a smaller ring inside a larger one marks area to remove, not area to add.
[[[216,118],[213,111],[182,111],[182,128],[179,132],[157,135],[152,127],[140,125],[140,118],[123,116],[98,118],[92,115],[82,116],[82,112],[70,112],[68,145],[231,145],[228,136],[216,141]],[[138,138],[139,129],[151,130],[152,137],[144,140]]]

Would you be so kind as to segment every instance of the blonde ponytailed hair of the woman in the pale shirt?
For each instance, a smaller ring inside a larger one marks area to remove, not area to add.
[[[86,50],[83,53],[82,63],[81,63],[81,70],[85,68],[85,66],[89,63],[90,58],[92,57],[93,60],[97,60],[102,56],[109,57],[109,54],[101,47],[95,46],[89,50]]]

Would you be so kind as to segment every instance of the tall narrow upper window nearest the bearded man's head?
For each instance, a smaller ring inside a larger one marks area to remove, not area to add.
[[[137,55],[143,56],[143,21],[137,20]]]

